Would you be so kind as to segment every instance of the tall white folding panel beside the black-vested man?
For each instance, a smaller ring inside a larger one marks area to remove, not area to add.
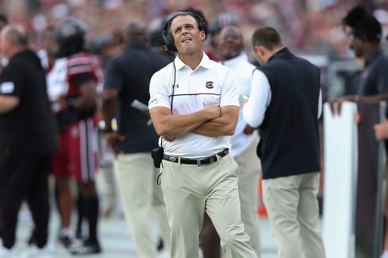
[[[357,176],[356,104],[342,104],[341,115],[323,106],[323,242],[328,258],[354,258]]]

